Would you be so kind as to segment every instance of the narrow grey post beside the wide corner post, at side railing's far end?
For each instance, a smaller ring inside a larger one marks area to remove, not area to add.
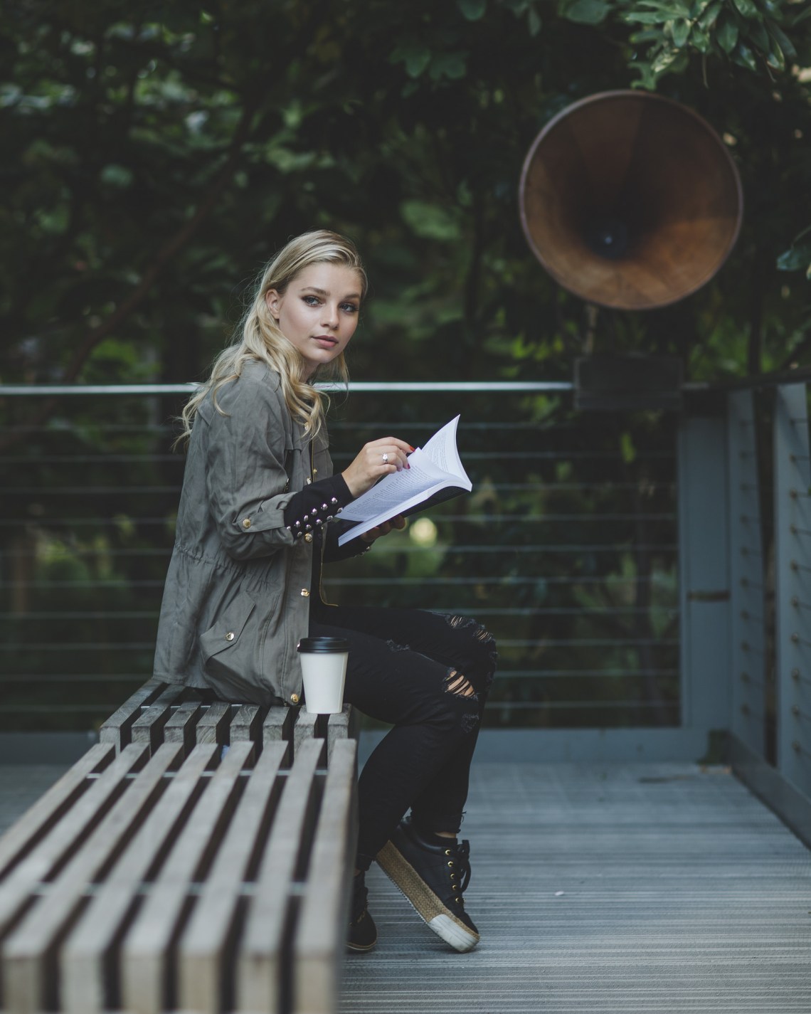
[[[727,395],[732,713],[731,730],[765,752],[765,603],[752,391]]]

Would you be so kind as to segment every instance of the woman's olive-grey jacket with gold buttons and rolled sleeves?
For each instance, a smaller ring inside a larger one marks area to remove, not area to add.
[[[279,375],[249,362],[195,418],[174,550],[160,609],[157,678],[230,701],[298,703],[296,646],[309,622],[313,542],[295,540],[284,508],[310,478],[309,443]],[[333,474],[325,431],[318,479]]]

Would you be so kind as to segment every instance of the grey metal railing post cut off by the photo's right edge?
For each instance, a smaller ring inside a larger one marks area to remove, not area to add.
[[[775,612],[778,768],[811,794],[811,462],[804,383],[775,405]]]

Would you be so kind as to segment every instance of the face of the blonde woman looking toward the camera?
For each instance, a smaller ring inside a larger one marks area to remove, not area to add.
[[[284,293],[269,289],[265,299],[279,330],[304,357],[304,379],[346,349],[358,327],[361,278],[343,264],[311,264]]]

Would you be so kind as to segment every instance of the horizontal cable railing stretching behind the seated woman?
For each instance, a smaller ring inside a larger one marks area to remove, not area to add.
[[[0,387],[3,729],[92,727],[151,673],[183,466],[170,420],[192,389]],[[675,728],[676,420],[577,413],[570,389],[367,383],[335,397],[336,468],[371,436],[419,444],[460,413],[473,492],[330,567],[325,594],[486,623],[500,646],[491,726]]]

